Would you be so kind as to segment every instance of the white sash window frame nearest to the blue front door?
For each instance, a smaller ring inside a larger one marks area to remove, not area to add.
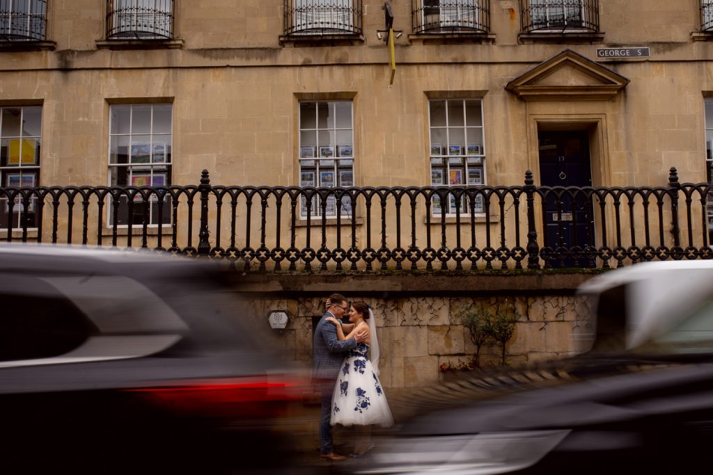
[[[444,113],[446,117],[446,125],[433,125],[433,118],[431,117],[431,103],[442,102],[446,107]],[[451,125],[448,118],[448,104],[461,102],[463,105],[463,125]],[[467,108],[466,103],[468,102],[478,102],[480,103],[480,125],[468,125]],[[483,187],[488,184],[488,169],[486,160],[486,147],[485,147],[485,113],[482,98],[461,98],[461,99],[429,99],[429,170],[431,172],[430,186],[431,187]],[[456,143],[456,139],[451,140],[451,130],[463,129],[463,142]],[[475,130],[471,131],[471,134],[475,135],[476,138],[470,137],[468,129],[479,130],[479,134]],[[434,130],[445,130],[445,143],[434,143],[433,136]],[[479,137],[478,137],[479,135]],[[461,153],[458,155],[451,155],[451,146],[461,147]],[[470,145],[478,145],[478,152],[473,152],[470,149]],[[434,152],[435,147],[440,148],[441,154],[437,155]],[[460,160],[460,164],[451,165],[452,160]],[[434,179],[434,172],[437,174],[437,170],[441,170],[441,183]],[[451,184],[450,177],[451,171],[456,172],[461,171],[461,184]],[[480,171],[481,182],[476,180],[471,180],[471,170],[474,173],[476,170]],[[448,212],[446,212],[446,217],[456,216],[456,207],[454,203],[455,197],[451,195]],[[471,212],[470,203],[467,197],[463,197],[461,200],[461,216],[463,214],[469,214]],[[485,216],[485,202],[482,195],[476,197],[475,204],[475,214],[476,216]],[[441,216],[441,205],[440,199],[434,194],[431,198],[431,215]]]

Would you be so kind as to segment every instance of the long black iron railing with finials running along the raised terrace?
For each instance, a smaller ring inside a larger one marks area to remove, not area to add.
[[[711,192],[675,169],[661,187],[582,188],[538,187],[530,172],[513,187],[228,187],[204,170],[197,186],[0,188],[0,237],[205,255],[242,271],[607,268],[713,258]],[[434,214],[434,199],[457,213]],[[319,217],[301,217],[305,200]],[[330,217],[330,200],[349,206]],[[120,206],[141,224],[120,226]],[[151,206],[168,224],[149,224]]]

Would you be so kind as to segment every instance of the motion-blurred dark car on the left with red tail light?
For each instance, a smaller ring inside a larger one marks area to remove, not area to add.
[[[0,246],[2,471],[281,473],[302,379],[225,284],[196,259]]]

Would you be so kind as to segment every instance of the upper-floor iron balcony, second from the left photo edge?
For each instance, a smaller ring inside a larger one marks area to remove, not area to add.
[[[173,38],[173,0],[108,0],[106,37],[121,40]]]

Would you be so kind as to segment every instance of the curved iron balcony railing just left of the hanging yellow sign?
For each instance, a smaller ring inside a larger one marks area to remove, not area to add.
[[[284,0],[284,34],[361,35],[361,0]]]

